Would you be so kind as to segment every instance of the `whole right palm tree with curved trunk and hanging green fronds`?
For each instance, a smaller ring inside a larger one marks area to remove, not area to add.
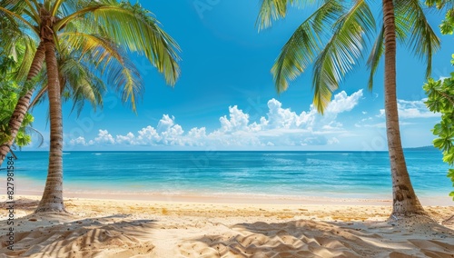
[[[259,30],[271,26],[273,19],[285,17],[289,5],[313,3],[319,3],[316,11],[282,47],[271,73],[277,91],[282,92],[287,89],[289,81],[314,63],[313,103],[323,114],[332,92],[339,88],[344,75],[357,64],[368,40],[374,36],[376,22],[370,4],[365,0],[262,0],[257,19]],[[375,35],[367,63],[371,89],[380,57],[385,56],[385,113],[393,193],[390,220],[428,216],[413,190],[405,164],[396,96],[396,39],[409,45],[415,55],[427,58],[427,76],[430,74],[431,56],[439,49],[439,38],[430,27],[422,5],[418,0],[382,1],[382,25]]]

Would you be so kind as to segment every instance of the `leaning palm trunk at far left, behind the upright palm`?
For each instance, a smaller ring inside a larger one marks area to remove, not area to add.
[[[30,71],[28,72],[26,82],[29,82],[36,76],[36,74],[41,71],[43,62],[44,44],[40,43],[40,45],[38,45],[38,48],[36,49],[36,53],[32,62],[32,66],[30,67]],[[32,98],[34,91],[35,87],[32,87],[24,96],[20,97],[17,101],[17,104],[15,104],[15,111],[11,115],[8,124],[11,131],[11,140],[5,144],[0,145],[0,166],[2,166],[6,155],[10,152],[11,146],[15,142],[15,136],[17,135],[17,132],[19,132],[19,128],[24,121],[24,117],[28,111],[28,107],[30,106],[30,99]]]

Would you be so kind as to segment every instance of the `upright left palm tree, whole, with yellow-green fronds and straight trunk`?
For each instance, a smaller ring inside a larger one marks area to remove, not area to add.
[[[123,69],[116,71],[122,73],[123,79],[114,83],[122,91],[123,100],[131,101],[134,110],[142,84],[136,84],[138,74],[133,74],[129,64],[123,62],[123,56],[113,50],[122,47],[123,52],[145,55],[164,75],[166,82],[173,85],[180,72],[177,65],[179,47],[163,32],[159,22],[138,4],[114,0],[10,2],[15,5],[2,5],[0,12],[27,25],[27,32],[38,35],[40,45],[44,45],[51,140],[47,180],[35,212],[64,212],[62,84],[57,64],[57,55],[63,51],[61,43],[67,41],[71,49],[80,51],[81,56],[93,55],[92,60],[99,60],[104,69],[108,70],[113,60],[120,63]],[[18,5],[22,9],[13,12]]]

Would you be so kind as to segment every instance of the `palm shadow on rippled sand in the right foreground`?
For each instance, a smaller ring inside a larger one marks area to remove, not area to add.
[[[188,257],[454,257],[454,231],[439,224],[399,228],[388,223],[301,220],[239,223],[231,229],[233,233],[187,241],[181,253]]]

